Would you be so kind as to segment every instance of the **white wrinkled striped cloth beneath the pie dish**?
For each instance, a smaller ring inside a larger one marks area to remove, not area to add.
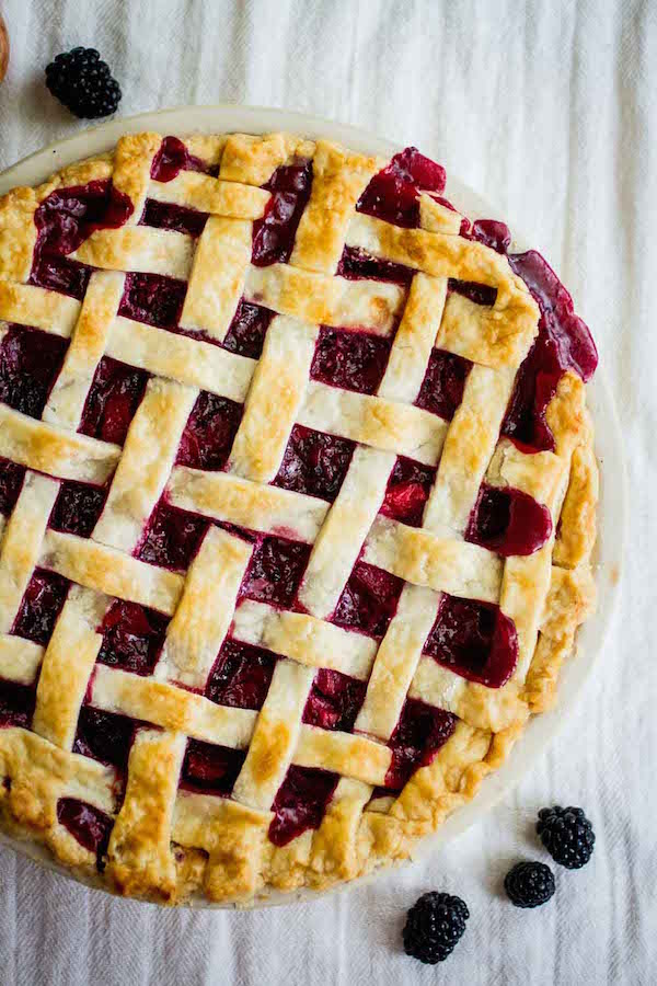
[[[350,986],[657,982],[657,5],[533,0],[5,0],[0,167],[83,124],[43,70],[97,47],[120,112],[232,100],[303,110],[413,142],[495,202],[550,259],[615,391],[632,490],[622,632],[530,777],[430,862],[314,904],[165,912],[116,901],[0,847],[0,982]],[[608,461],[604,469],[614,469]],[[653,549],[652,551],[649,549]],[[500,892],[543,804],[584,805],[598,841],[556,868],[537,912]],[[406,908],[457,893],[472,917],[437,971],[400,948]]]

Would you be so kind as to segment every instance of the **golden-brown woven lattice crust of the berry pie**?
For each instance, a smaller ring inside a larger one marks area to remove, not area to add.
[[[43,841],[80,879],[115,893],[166,904],[197,893],[217,903],[249,903],[272,888],[321,890],[406,858],[419,838],[499,768],[529,714],[550,707],[577,627],[595,605],[590,555],[598,472],[585,387],[570,372],[560,380],[546,411],[553,452],[526,455],[508,439],[498,440],[515,371],[537,333],[538,309],[506,257],[458,236],[459,214],[424,194],[419,229],[355,213],[384,162],[323,140],[197,135],[188,149],[219,165],[218,177],[182,172],[169,184],[150,177],[160,144],[155,134],[128,135],[113,153],[0,198],[0,319],[71,339],[42,422],[0,405],[0,455],[34,470],[12,518],[0,525],[0,632],[9,634],[25,580],[37,563],[83,586],[69,596],[45,652],[25,642],[19,662],[16,639],[0,637],[0,676],[30,684],[41,666],[34,731],[0,730],[0,777],[7,779],[0,784],[0,824],[16,837]],[[260,186],[277,167],[306,159],[313,160],[314,181],[290,264],[250,266],[252,220],[267,202]],[[97,230],[79,248],[77,260],[101,268],[83,303],[27,285],[38,205],[58,188],[108,177],[130,198],[134,213],[119,229]],[[198,249],[182,233],[137,225],[146,197],[158,195],[210,214]],[[345,243],[417,271],[408,297],[396,285],[334,276]],[[255,369],[254,360],[209,344],[114,318],[126,270],[188,278],[182,324],[218,341],[241,296],[278,312],[265,358]],[[495,303],[447,297],[449,277],[495,287]],[[310,342],[319,323],[394,334],[377,394],[308,382]],[[413,406],[434,345],[475,364],[451,426]],[[128,363],[134,355],[132,365],[155,377],[118,469],[120,449],[76,432],[103,353]],[[260,386],[266,377],[275,380],[274,389],[270,382]],[[232,473],[173,468],[199,388],[246,399]],[[168,434],[158,431],[163,417]],[[361,443],[345,494],[331,508],[314,497],[262,485],[276,474],[295,422]],[[263,444],[265,426],[269,433]],[[146,447],[151,455],[158,450],[157,461],[141,460]],[[424,529],[381,516],[372,526],[370,513],[376,514],[395,452],[438,463]],[[55,479],[37,474],[43,472]],[[103,483],[112,473],[97,540],[44,534],[58,480]],[[534,555],[503,562],[462,540],[484,478],[520,489],[550,509],[555,534]],[[304,589],[309,614],[246,603],[234,620],[235,639],[283,655],[260,713],[216,706],[180,687],[203,689],[212,654],[228,632],[251,549],[214,529],[187,583],[131,558],[143,518],[165,484],[171,502],[184,509],[265,532],[286,530],[315,546]],[[335,584],[326,580],[326,562],[335,563],[334,581],[343,567],[348,575],[365,535],[365,560],[407,580],[378,649],[324,621],[342,591],[339,578]],[[499,601],[514,618],[520,663],[506,686],[489,689],[468,681],[422,655],[423,619],[433,623],[439,591]],[[114,771],[71,752],[101,642],[95,628],[110,603],[105,593],[173,617],[157,676],[135,680],[107,667],[94,676],[99,708],[151,726],[138,731],[120,805]],[[206,641],[211,643],[207,653]],[[73,652],[74,660],[67,661]],[[301,722],[319,666],[372,683],[357,722],[362,733],[330,733]],[[408,693],[433,699],[458,716],[453,735],[397,798],[372,799],[390,767],[385,743]],[[188,736],[247,749],[232,799],[178,789]],[[339,781],[319,828],[275,846],[267,837],[270,806],[291,763],[336,771]],[[94,853],[59,823],[61,798],[85,801],[115,819],[102,873]]]

